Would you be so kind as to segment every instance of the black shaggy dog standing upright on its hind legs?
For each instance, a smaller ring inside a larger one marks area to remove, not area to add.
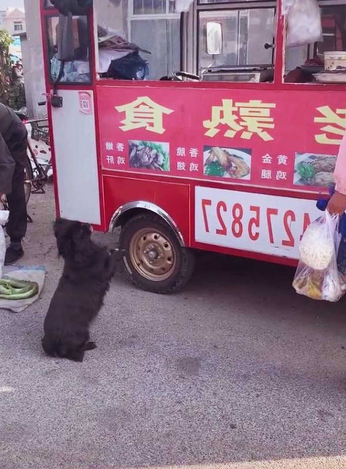
[[[56,219],[54,234],[65,260],[59,285],[45,317],[42,347],[50,356],[83,362],[90,342],[89,325],[100,310],[115,271],[114,252],[90,239],[87,223]]]

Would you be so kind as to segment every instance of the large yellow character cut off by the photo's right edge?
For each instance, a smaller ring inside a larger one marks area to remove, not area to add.
[[[317,111],[323,117],[315,117],[314,122],[328,124],[321,127],[321,134],[315,135],[315,140],[319,144],[339,145],[346,128],[346,109],[337,109],[332,111],[329,106],[317,107]],[[343,116],[343,117],[341,117]],[[328,134],[331,134],[329,137]]]

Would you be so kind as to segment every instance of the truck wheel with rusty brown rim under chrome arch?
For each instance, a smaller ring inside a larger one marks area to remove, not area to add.
[[[137,287],[153,293],[175,293],[190,279],[194,252],[182,248],[171,228],[155,215],[138,215],[121,229],[124,264]]]

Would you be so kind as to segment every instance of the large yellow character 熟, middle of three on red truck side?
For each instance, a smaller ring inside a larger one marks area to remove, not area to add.
[[[213,137],[220,129],[220,124],[229,127],[224,136],[233,138],[241,132],[241,138],[249,140],[254,134],[268,142],[273,137],[264,129],[274,129],[274,119],[271,109],[274,103],[263,103],[261,100],[251,99],[248,103],[234,103],[233,99],[222,99],[222,106],[211,106],[211,120],[203,121],[203,127],[209,129],[204,135]]]

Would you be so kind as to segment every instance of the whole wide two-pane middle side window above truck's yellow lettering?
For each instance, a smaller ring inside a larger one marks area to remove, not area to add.
[[[99,77],[271,81],[275,2],[242,3],[95,0]]]

